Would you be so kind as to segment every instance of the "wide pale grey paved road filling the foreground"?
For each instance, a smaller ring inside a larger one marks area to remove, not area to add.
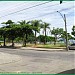
[[[74,51],[0,48],[0,72],[60,73],[75,69]]]

